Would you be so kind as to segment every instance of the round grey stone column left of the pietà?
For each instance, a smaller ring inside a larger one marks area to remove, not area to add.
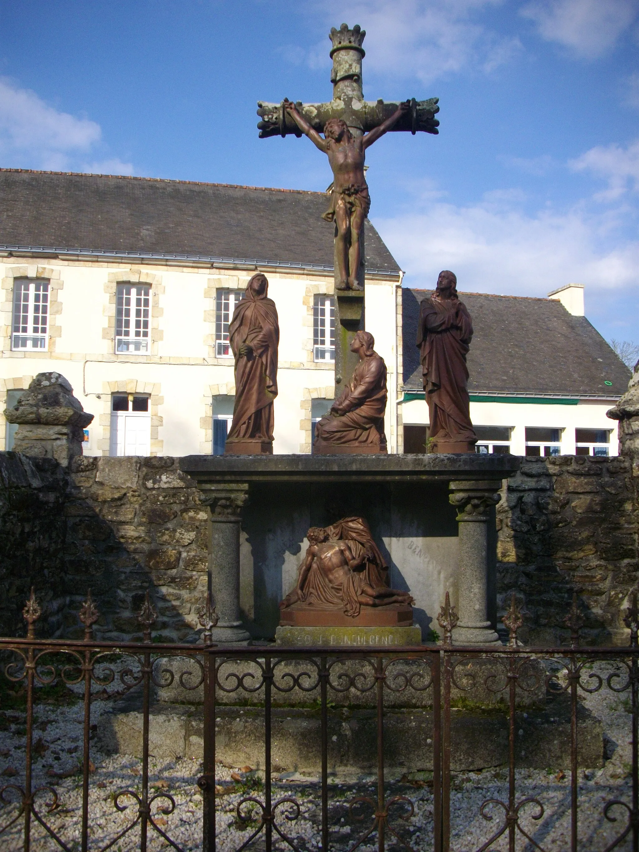
[[[239,528],[249,498],[248,483],[207,482],[200,486],[209,506],[209,589],[218,616],[210,630],[216,643],[247,642],[239,617]]]

